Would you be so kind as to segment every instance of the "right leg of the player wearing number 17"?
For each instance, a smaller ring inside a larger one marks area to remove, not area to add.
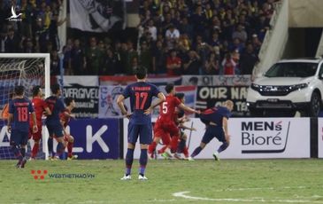
[[[148,156],[147,156],[147,148],[148,144],[151,143],[151,138],[152,138],[152,129],[151,129],[151,124],[147,125],[141,125],[140,126],[140,148],[141,148],[141,153],[140,153],[140,158],[139,158],[139,180],[147,180],[147,177],[145,177],[145,171],[146,171],[146,166],[148,162]]]

